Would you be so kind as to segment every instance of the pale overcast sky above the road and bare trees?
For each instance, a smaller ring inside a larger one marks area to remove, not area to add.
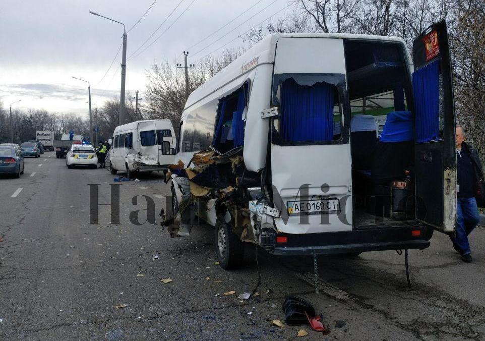
[[[89,11],[123,22],[129,30],[153,1],[1,0],[0,100],[4,107],[21,99],[13,107],[87,115],[87,84],[72,76],[90,82],[92,102],[97,105],[101,106],[107,98],[119,98],[121,51],[103,76],[122,44],[123,26],[91,15]],[[143,97],[145,70],[154,61],[178,58],[178,62],[183,63],[183,50],[229,23],[189,49],[189,63],[194,63],[251,27],[267,22],[266,18],[285,8],[287,3],[287,0],[157,0],[128,32],[127,56],[131,56],[179,6],[137,53],[159,38],[140,55],[128,59],[127,95],[131,92],[134,96],[135,91],[140,90],[140,97]],[[272,21],[285,16],[286,12],[286,9],[279,12]],[[236,39],[225,48],[242,43],[242,39]]]

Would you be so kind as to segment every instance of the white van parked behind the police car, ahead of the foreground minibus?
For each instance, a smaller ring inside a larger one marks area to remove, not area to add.
[[[110,171],[165,171],[173,161],[175,132],[170,120],[136,121],[114,129],[109,151]]]

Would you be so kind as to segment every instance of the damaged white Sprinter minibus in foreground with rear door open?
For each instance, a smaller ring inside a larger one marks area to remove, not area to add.
[[[446,24],[397,37],[271,34],[189,97],[171,166],[172,236],[215,226],[276,255],[424,249],[456,219]],[[181,161],[180,161],[181,160]]]

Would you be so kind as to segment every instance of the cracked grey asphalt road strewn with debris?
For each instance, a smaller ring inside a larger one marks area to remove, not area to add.
[[[225,271],[214,264],[211,228],[171,239],[158,215],[155,224],[130,222],[131,211],[146,207],[142,197],[133,203],[136,195],[153,199],[156,212],[165,205],[160,175],[113,178],[105,169],[68,169],[51,152],[26,159],[20,179],[0,177],[0,339],[266,340],[292,339],[299,329],[309,333],[302,339],[319,340],[485,339],[482,228],[471,235],[472,264],[439,233],[430,248],[411,250],[412,290],[395,251],[319,257],[320,294],[311,258],[258,252],[259,296],[239,300],[258,281],[254,248],[245,267]],[[119,224],[109,223],[108,205],[90,224],[89,184],[99,184],[99,204],[119,184]],[[331,333],[272,325],[284,320],[288,294],[310,301]],[[336,328],[338,320],[345,325]]]

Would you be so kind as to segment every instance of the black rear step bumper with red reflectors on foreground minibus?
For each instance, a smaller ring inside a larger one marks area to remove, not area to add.
[[[414,231],[414,234],[413,234]],[[419,234],[418,234],[419,231]],[[316,254],[359,253],[399,249],[426,249],[433,229],[425,226],[330,232],[308,235],[277,234],[261,245],[274,255],[293,256]],[[276,243],[276,237],[286,237],[286,243]],[[272,240],[271,240],[272,239]],[[270,241],[271,240],[271,241]]]

